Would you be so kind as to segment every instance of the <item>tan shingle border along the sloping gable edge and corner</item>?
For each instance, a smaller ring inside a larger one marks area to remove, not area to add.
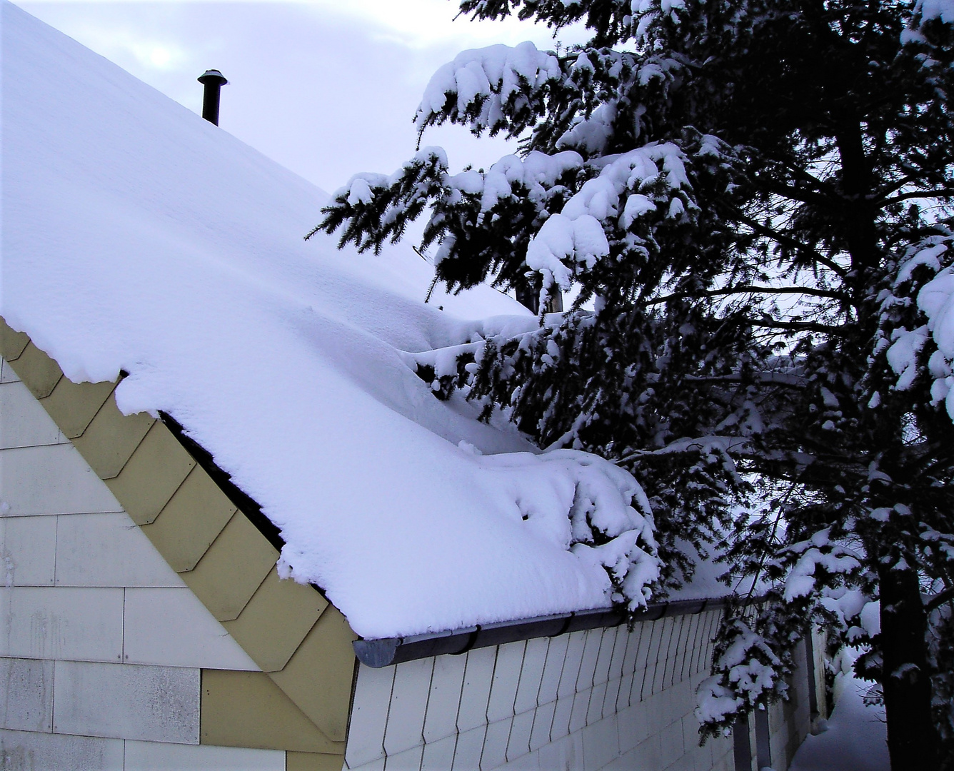
[[[355,636],[343,616],[315,589],[279,579],[270,539],[174,430],[119,412],[116,384],[71,382],[2,319],[0,355],[50,415],[64,448],[78,450],[177,580],[261,670],[202,670],[199,740],[286,750],[289,768],[341,768],[355,667]]]

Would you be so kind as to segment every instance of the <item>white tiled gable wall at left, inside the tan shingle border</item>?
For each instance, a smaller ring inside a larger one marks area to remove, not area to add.
[[[0,768],[261,769],[199,744],[202,670],[258,672],[0,360]]]

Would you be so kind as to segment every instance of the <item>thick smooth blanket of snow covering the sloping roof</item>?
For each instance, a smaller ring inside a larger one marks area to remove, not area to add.
[[[303,241],[320,190],[6,0],[0,13],[11,326],[73,381],[127,371],[120,409],[185,427],[280,528],[282,571],[361,636],[609,604],[596,550],[568,551],[568,512],[583,496],[638,530],[632,476],[533,454],[402,358],[456,343],[468,317],[533,323],[525,311],[490,289],[425,304],[430,268],[409,249]]]

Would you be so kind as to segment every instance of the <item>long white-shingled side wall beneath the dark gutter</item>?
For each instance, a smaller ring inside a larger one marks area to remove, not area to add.
[[[693,714],[720,613],[362,665],[345,767],[734,771]]]

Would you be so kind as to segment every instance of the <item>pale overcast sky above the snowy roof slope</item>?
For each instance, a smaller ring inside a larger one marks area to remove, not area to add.
[[[329,193],[356,172],[392,172],[414,152],[411,117],[430,75],[457,52],[555,45],[525,22],[454,20],[453,0],[17,5],[197,113],[197,76],[220,70],[229,85],[219,125]],[[431,130],[424,143],[443,145],[454,168],[513,152],[461,127]]]

